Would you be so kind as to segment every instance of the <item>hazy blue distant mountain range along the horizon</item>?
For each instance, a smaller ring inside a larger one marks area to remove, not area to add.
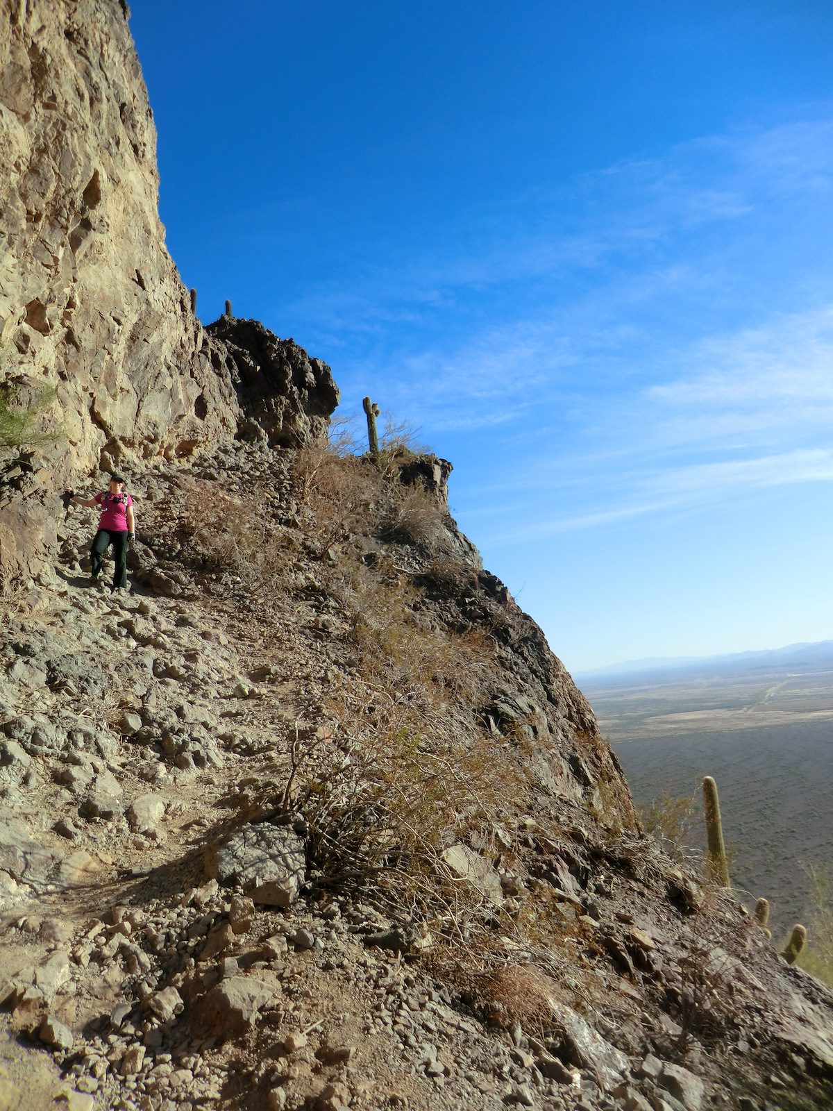
[[[669,671],[731,674],[784,669],[817,671],[827,668],[833,668],[833,640],[786,644],[755,652],[731,652],[726,655],[646,657],[576,672],[573,678],[580,684],[586,684],[625,675],[632,679],[634,675],[655,675],[658,672]]]

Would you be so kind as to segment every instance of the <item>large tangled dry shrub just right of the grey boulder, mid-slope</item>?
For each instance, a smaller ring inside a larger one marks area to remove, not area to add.
[[[365,689],[363,705],[328,708],[332,735],[295,748],[284,808],[309,828],[309,854],[327,887],[372,889],[397,913],[462,938],[488,910],[442,852],[474,837],[514,789],[512,769],[484,737],[458,734],[407,694]]]

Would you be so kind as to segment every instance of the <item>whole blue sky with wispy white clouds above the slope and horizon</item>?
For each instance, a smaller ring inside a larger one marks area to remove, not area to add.
[[[136,0],[168,246],[571,671],[833,638],[827,0]]]

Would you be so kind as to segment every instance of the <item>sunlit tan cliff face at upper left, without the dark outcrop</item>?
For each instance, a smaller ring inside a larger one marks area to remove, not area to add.
[[[118,0],[24,0],[0,20],[4,377],[52,388],[79,469],[231,432],[159,220],[155,130]]]

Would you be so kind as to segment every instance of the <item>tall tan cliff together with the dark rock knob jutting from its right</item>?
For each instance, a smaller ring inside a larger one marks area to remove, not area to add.
[[[42,563],[53,491],[72,473],[238,433],[299,443],[323,431],[338,390],[262,326],[241,337],[245,322],[225,319],[212,339],[194,317],[159,219],[127,4],[2,0],[0,12],[0,387],[46,398],[52,436],[46,469],[0,481],[7,582]]]

